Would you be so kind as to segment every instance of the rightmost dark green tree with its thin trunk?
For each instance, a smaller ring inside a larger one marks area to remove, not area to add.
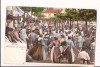
[[[93,9],[80,9],[79,10],[79,17],[81,20],[85,21],[86,31],[87,31],[87,25],[88,21],[96,21],[96,10]]]

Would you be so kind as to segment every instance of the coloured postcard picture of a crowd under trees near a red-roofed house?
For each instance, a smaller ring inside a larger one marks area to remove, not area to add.
[[[7,6],[5,44],[26,63],[94,65],[96,23],[96,9]]]

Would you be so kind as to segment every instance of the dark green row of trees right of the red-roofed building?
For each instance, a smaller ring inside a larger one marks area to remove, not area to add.
[[[65,13],[58,13],[52,19],[55,20],[67,20],[70,22],[70,28],[72,27],[72,22],[85,21],[85,26],[87,29],[87,23],[91,21],[96,22],[96,10],[94,9],[65,9]]]

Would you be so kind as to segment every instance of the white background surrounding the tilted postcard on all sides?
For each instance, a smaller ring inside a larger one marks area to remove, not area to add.
[[[100,5],[99,0],[1,0],[1,65],[2,66],[19,66],[19,64],[4,64],[4,40],[5,40],[5,20],[6,20],[6,6],[32,6],[32,7],[58,7],[58,8],[85,8],[97,10],[97,30],[96,30],[96,52],[95,65],[100,65]],[[20,66],[57,66],[52,63],[25,63]],[[70,64],[59,64],[59,66],[69,66]],[[74,66],[73,64],[71,64]],[[76,64],[75,64],[76,65]]]

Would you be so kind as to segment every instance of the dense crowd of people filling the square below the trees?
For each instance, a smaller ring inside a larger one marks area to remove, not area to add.
[[[15,19],[13,15],[6,17],[5,36],[9,42],[26,43],[26,61],[43,60],[50,56],[53,63],[61,63],[63,58],[68,63],[79,59],[80,63],[94,62],[95,26],[85,28],[67,21]],[[77,54],[76,51],[77,50]]]

